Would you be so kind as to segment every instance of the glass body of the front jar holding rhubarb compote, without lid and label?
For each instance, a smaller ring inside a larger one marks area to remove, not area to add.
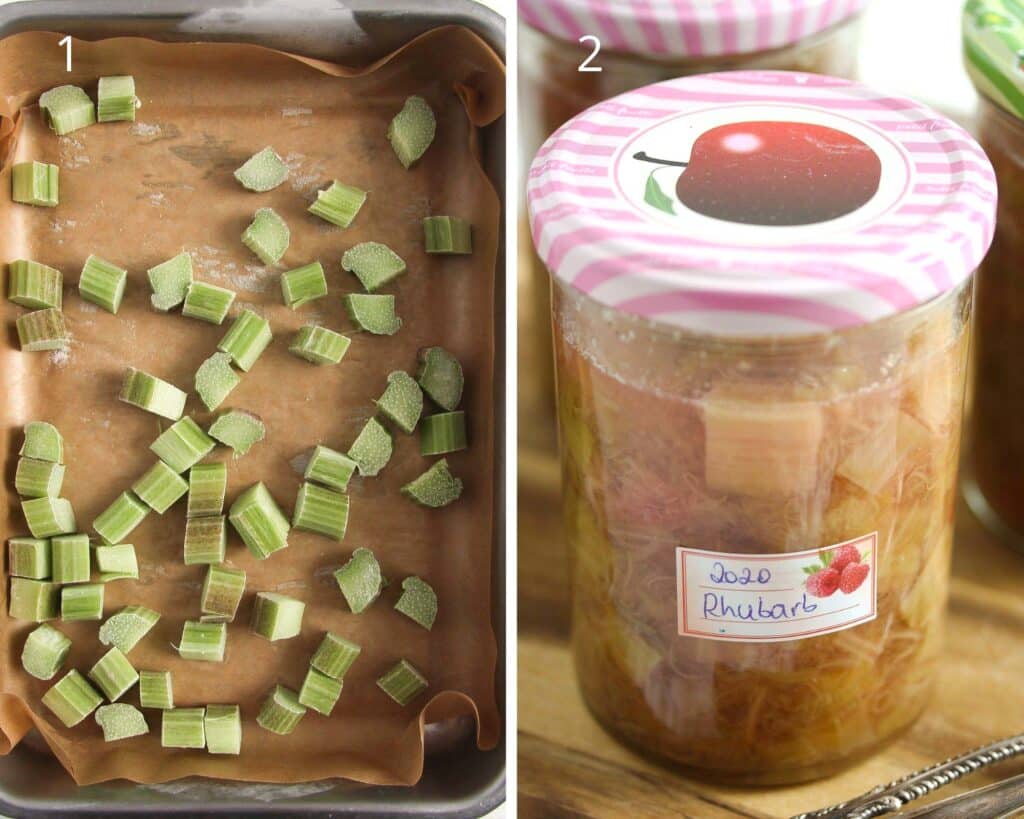
[[[612,733],[773,783],[825,776],[914,721],[941,646],[970,296],[835,335],[713,344],[556,285],[572,645]],[[677,546],[785,554],[865,532],[874,619],[764,644],[678,634]]]

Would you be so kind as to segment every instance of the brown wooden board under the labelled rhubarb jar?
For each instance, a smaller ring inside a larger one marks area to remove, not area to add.
[[[842,774],[796,787],[727,788],[659,767],[604,733],[583,704],[568,650],[555,460],[520,452],[519,479],[520,817],[790,817],[1024,731],[1024,555],[961,504],[945,655],[931,705],[909,732]],[[1024,760],[940,795],[1018,773]]]

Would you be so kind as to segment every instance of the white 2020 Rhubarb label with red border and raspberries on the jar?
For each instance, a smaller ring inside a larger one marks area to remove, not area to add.
[[[744,643],[802,640],[874,619],[879,533],[805,552],[737,555],[679,547],[679,634]]]

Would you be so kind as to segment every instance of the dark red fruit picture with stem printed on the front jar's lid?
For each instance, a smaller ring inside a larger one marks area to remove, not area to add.
[[[851,134],[802,122],[737,122],[697,137],[687,162],[638,152],[633,159],[682,168],[679,203],[714,219],[756,225],[806,225],[853,213],[878,192],[882,163]],[[644,200],[675,213],[674,203],[647,178]]]

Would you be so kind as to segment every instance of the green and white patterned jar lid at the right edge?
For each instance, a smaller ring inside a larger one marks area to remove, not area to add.
[[[969,0],[964,60],[979,91],[1024,119],[1024,2]]]

